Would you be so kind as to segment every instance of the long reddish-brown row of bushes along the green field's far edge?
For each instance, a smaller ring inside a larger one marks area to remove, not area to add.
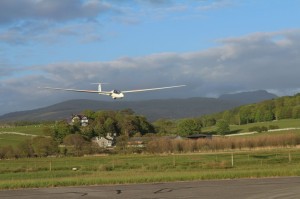
[[[264,129],[261,128],[260,129]],[[262,135],[256,137],[214,137],[213,139],[171,140],[156,139],[147,145],[149,153],[188,153],[222,151],[236,149],[253,149],[256,147],[290,147],[300,144],[300,136],[288,133],[285,135]]]

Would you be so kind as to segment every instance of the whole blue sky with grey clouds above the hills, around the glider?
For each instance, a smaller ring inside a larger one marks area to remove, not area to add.
[[[122,100],[300,92],[298,0],[1,0],[0,115],[97,94]],[[126,107],[125,107],[126,108]]]

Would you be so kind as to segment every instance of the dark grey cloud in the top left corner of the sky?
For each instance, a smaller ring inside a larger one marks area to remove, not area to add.
[[[78,18],[95,18],[110,10],[107,3],[99,0],[2,0],[0,23],[24,20],[67,21]]]

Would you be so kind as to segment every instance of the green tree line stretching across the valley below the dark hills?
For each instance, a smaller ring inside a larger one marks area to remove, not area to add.
[[[229,124],[242,125],[300,118],[300,94],[244,105],[196,118],[160,119],[153,123],[150,123],[144,116],[136,115],[131,109],[85,110],[82,114],[88,117],[89,125],[81,126],[80,121],[70,124],[66,120],[44,123],[44,137],[28,139],[18,147],[0,147],[0,158],[57,154],[83,155],[103,152],[102,149],[92,144],[91,139],[95,136],[105,137],[107,134],[117,137],[117,147],[119,143],[120,149],[124,149],[126,140],[134,136],[180,135],[185,137],[201,133],[201,128],[209,126],[216,126],[217,130],[214,133],[224,135],[230,133]],[[18,125],[22,123],[19,122]]]

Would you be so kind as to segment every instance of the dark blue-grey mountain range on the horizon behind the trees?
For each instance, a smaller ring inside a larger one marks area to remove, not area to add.
[[[97,101],[77,99],[35,110],[12,112],[0,116],[0,122],[6,121],[49,121],[70,118],[84,110],[123,110],[132,109],[138,115],[144,115],[149,121],[161,118],[178,119],[197,117],[205,114],[228,110],[244,104],[273,99],[277,96],[267,91],[252,91],[221,95],[219,98],[193,97],[188,99],[159,99],[143,101]]]

